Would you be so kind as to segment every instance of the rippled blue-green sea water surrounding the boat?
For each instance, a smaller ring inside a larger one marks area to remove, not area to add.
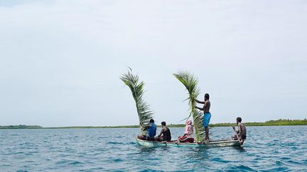
[[[244,149],[146,149],[135,143],[137,128],[0,130],[0,171],[307,171],[307,126],[247,130]],[[212,139],[233,134],[210,132]]]

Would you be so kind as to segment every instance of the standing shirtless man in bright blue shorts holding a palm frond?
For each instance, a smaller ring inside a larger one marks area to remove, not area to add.
[[[203,117],[203,125],[205,127],[205,142],[210,142],[209,139],[209,122],[211,118],[211,113],[210,113],[210,101],[209,101],[209,94],[205,93],[205,101],[198,101],[196,100],[197,103],[204,104],[203,108],[198,108],[196,106],[195,108],[198,108],[199,110],[204,111],[204,117]]]

